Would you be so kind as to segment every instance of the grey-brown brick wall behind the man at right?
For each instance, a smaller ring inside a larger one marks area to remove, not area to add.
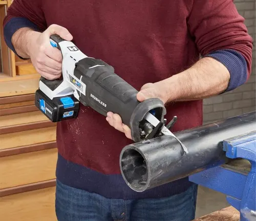
[[[238,12],[245,18],[248,33],[256,43],[255,0],[234,0],[234,4],[236,4]],[[255,111],[255,46],[252,59],[252,73],[246,84],[226,94],[204,99],[204,123]]]

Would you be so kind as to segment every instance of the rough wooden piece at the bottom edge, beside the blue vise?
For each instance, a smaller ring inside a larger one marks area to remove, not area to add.
[[[239,221],[240,213],[232,206],[202,216],[195,221]]]

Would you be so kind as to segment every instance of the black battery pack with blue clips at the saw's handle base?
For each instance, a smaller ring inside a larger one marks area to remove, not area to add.
[[[35,105],[52,122],[76,118],[79,111],[79,101],[74,95],[51,100],[40,90],[35,93]]]

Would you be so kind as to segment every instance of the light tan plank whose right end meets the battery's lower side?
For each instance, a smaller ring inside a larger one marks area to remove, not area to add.
[[[21,114],[6,115],[0,117],[0,128],[15,126],[20,124],[34,123],[39,121],[46,121],[48,118],[40,111],[26,112]]]

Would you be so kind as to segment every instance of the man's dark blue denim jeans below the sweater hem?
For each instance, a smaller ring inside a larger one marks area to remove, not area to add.
[[[165,198],[122,200],[56,184],[59,221],[190,221],[195,218],[197,185]]]

